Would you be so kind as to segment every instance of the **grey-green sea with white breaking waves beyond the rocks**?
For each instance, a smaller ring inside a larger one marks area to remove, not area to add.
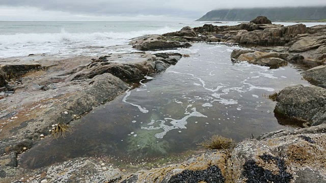
[[[0,21],[0,58],[29,54],[101,56],[109,52],[130,52],[133,49],[128,42],[132,38],[179,31],[184,26],[196,27],[205,23],[239,24],[196,21]]]

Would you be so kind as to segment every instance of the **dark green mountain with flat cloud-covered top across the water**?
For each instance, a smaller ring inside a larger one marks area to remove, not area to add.
[[[271,21],[324,20],[326,6],[212,10],[196,21],[250,21],[257,16],[266,16]]]

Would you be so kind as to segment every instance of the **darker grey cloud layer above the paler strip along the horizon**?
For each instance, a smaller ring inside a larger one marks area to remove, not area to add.
[[[318,6],[326,5],[324,0],[274,0],[274,1],[225,1],[216,0],[1,0],[0,6],[36,7],[42,10],[63,11],[86,15],[166,15],[174,17],[199,18],[213,9],[280,7],[280,6]]]

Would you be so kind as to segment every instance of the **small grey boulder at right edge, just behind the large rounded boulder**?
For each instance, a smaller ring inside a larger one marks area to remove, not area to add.
[[[301,73],[302,76],[313,84],[326,84],[326,66],[318,66]]]

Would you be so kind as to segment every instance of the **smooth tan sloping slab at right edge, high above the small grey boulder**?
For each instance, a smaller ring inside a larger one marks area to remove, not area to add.
[[[295,42],[289,49],[290,52],[304,52],[311,49],[317,49],[326,44],[326,36],[305,37]]]

